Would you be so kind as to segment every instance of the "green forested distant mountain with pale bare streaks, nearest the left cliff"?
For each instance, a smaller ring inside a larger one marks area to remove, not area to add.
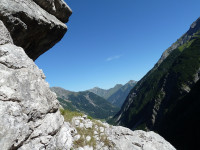
[[[81,111],[93,118],[107,119],[119,111],[118,107],[90,91],[71,92],[60,87],[51,90],[57,94],[63,108]]]

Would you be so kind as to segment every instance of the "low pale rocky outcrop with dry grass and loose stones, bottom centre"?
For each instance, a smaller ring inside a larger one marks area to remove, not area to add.
[[[73,149],[78,150],[175,150],[164,138],[154,132],[131,131],[111,126],[86,115],[73,117]]]

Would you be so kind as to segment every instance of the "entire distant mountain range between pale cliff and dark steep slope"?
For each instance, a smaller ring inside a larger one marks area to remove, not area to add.
[[[98,87],[81,92],[72,92],[61,87],[52,87],[51,90],[56,93],[57,99],[64,109],[83,112],[93,118],[107,120],[119,111],[136,83],[136,81],[130,80],[125,85],[117,84],[107,90]]]

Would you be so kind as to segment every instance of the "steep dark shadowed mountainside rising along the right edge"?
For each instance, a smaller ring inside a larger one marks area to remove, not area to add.
[[[177,149],[195,149],[200,133],[199,79],[200,18],[131,90],[115,123],[154,130]]]

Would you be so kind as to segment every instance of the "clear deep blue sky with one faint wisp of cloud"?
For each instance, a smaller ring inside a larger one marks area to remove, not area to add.
[[[36,64],[50,86],[82,91],[140,80],[200,16],[199,0],[66,0],[68,32]]]

